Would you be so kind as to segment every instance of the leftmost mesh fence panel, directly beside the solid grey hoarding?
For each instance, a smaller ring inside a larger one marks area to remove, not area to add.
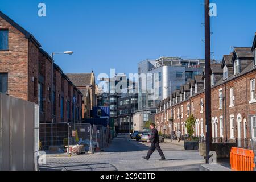
[[[40,123],[39,150],[47,153],[67,152],[68,130],[68,123]]]

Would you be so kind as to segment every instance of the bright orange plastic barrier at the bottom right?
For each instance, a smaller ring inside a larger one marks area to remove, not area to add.
[[[254,152],[252,150],[232,147],[230,166],[232,171],[254,171]]]

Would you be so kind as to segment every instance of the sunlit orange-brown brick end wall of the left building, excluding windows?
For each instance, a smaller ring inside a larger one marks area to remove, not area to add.
[[[28,100],[28,40],[1,17],[0,28],[9,30],[9,51],[0,51],[0,73],[8,73],[10,96]]]

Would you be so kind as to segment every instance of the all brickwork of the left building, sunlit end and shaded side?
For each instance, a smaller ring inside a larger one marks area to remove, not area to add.
[[[0,73],[8,73],[8,94],[13,97],[31,101],[38,104],[39,78],[43,84],[43,111],[40,112],[40,122],[51,122],[51,74],[52,62],[49,55],[28,40],[22,32],[0,17],[0,29],[9,30],[9,50],[0,51]],[[56,90],[56,122],[65,121],[67,118],[67,101],[71,101],[74,87],[69,84],[64,73],[56,70],[53,72],[53,82]],[[68,86],[69,85],[69,86]],[[62,86],[62,88],[61,88]],[[70,92],[68,92],[68,87]],[[75,91],[77,106],[81,113],[82,97]],[[60,118],[60,98],[64,97],[63,119]],[[81,120],[81,114],[79,115]]]

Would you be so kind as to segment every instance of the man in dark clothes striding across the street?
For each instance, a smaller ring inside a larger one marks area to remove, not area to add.
[[[150,156],[153,154],[155,150],[158,150],[159,155],[161,156],[160,160],[166,160],[166,157],[163,154],[163,151],[161,150],[159,146],[159,135],[158,135],[158,130],[155,128],[155,123],[150,124],[150,129],[152,129],[152,135],[150,137],[150,150],[148,150],[147,156],[143,157],[144,159],[148,160]]]

